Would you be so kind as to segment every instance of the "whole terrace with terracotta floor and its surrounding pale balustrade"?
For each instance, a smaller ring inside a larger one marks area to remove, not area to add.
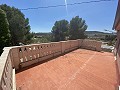
[[[79,39],[6,47],[0,90],[117,90],[117,61],[101,44]]]

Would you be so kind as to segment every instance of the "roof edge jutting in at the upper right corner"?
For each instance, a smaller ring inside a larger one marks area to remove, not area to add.
[[[118,0],[118,6],[117,6],[116,16],[113,24],[113,29],[120,30],[120,0]]]

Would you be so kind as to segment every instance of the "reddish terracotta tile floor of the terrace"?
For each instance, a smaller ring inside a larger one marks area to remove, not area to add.
[[[78,49],[16,74],[18,90],[115,90],[112,53]]]

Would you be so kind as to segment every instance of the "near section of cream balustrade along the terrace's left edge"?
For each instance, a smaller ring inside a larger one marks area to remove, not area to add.
[[[0,57],[0,90],[14,90],[14,74],[11,49],[4,48]]]

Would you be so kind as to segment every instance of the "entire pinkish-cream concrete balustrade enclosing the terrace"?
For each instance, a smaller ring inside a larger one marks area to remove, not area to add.
[[[78,39],[4,48],[0,57],[0,90],[16,89],[14,68],[18,70],[77,48],[101,51],[101,44],[98,41]]]

